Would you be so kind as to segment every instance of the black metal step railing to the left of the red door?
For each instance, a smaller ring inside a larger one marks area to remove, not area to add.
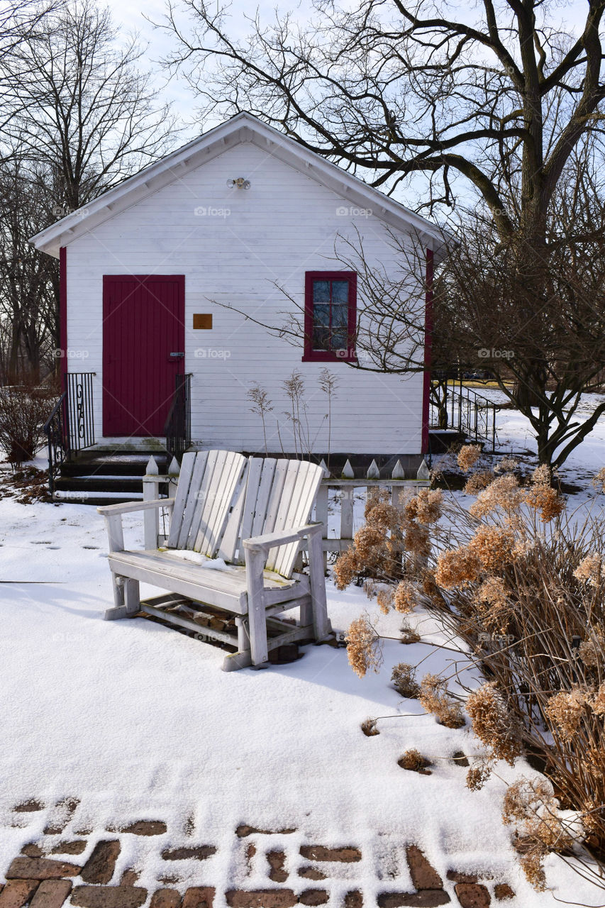
[[[96,372],[67,372],[64,392],[45,422],[48,445],[48,489],[55,492],[61,464],[94,445],[93,379]]]

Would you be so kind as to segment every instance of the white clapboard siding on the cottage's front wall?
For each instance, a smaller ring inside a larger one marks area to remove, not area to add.
[[[237,175],[250,179],[249,190],[227,188],[227,180]],[[354,370],[341,361],[302,362],[302,337],[297,348],[235,311],[275,325],[283,324],[288,313],[296,316],[275,281],[303,305],[305,271],[344,270],[333,262],[334,243],[339,236],[342,242],[357,242],[357,230],[366,266],[399,275],[401,262],[386,225],[369,212],[343,215],[350,207],[310,171],[246,142],[70,242],[67,365],[95,373],[97,439],[103,437],[103,275],[160,273],[185,279],[184,370],[192,374],[195,442],[206,449],[264,451],[261,419],[246,400],[256,381],[273,404],[266,419],[267,449],[282,450],[279,424],[283,450],[294,453],[292,420],[283,417],[290,410],[283,381],[299,370],[315,451],[419,453],[422,373],[402,380]],[[193,330],[196,312],[212,314],[212,330]],[[338,380],[330,439],[327,398],[318,384],[326,366]]]

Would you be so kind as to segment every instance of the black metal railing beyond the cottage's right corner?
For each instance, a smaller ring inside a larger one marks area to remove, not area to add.
[[[455,429],[491,451],[496,449],[498,410],[498,404],[461,380],[441,380],[432,386],[431,429]]]

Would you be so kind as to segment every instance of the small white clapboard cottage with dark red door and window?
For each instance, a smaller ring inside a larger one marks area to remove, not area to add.
[[[389,231],[421,236],[429,264],[441,242],[431,222],[238,114],[36,234],[61,262],[72,447],[153,449],[180,433],[198,448],[420,463],[428,373],[349,364],[362,300],[333,256],[356,231],[382,266]],[[263,327],[295,314],[288,297],[304,307],[298,345]]]

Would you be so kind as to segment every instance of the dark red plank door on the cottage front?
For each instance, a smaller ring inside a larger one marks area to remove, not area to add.
[[[103,434],[164,435],[184,372],[184,276],[103,278]]]

